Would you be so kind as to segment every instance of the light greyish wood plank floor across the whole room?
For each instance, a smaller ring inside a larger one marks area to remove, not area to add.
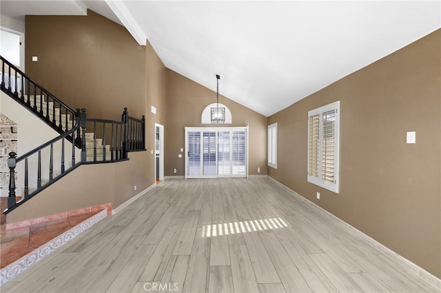
[[[1,287],[167,290],[438,291],[341,221],[261,177],[161,182]]]

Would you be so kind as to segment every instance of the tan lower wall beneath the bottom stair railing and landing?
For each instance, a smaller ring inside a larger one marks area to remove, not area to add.
[[[112,208],[117,208],[151,185],[143,178],[144,155],[145,152],[129,153],[130,160],[124,162],[81,165],[12,210],[6,221],[10,224],[99,204],[111,203]]]

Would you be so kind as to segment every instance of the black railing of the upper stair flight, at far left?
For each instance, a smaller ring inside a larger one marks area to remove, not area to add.
[[[14,100],[39,116],[52,129],[64,133],[74,127],[75,111],[20,69],[1,59],[1,89]]]

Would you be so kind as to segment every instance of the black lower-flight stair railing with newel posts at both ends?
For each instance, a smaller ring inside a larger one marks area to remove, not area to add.
[[[85,113],[85,110],[81,111],[80,109],[76,110],[75,115],[75,124],[72,129],[69,131],[66,131],[65,133],[57,136],[57,138],[53,138],[52,140],[45,142],[44,144],[41,144],[40,146],[37,146],[36,148],[32,149],[31,151],[28,151],[27,153],[21,155],[19,158],[17,158],[17,153],[10,152],[9,158],[8,158],[8,168],[10,169],[10,177],[9,177],[9,194],[8,194],[8,209],[5,210],[5,214],[9,213],[14,208],[17,208],[20,204],[30,199],[33,195],[39,193],[39,191],[43,190],[45,187],[49,185],[49,183],[52,184],[52,181],[58,180],[61,175],[67,174],[69,171],[72,171],[77,166],[83,163],[83,158],[85,160],[85,147],[81,150],[81,160],[79,162],[76,162],[76,146],[75,146],[75,135],[79,135],[79,133],[83,133],[81,144],[85,145],[84,140],[84,131],[85,131],[85,115],[81,115],[82,113]],[[80,132],[81,130],[81,132]],[[70,168],[65,169],[64,164],[64,157],[65,157],[65,150],[64,150],[64,139],[72,138],[72,164]],[[62,148],[61,148],[61,175],[59,177],[53,177],[52,171],[53,171],[53,146],[56,142],[59,142],[61,140]],[[49,171],[49,182],[46,183],[44,186],[41,186],[41,151],[43,149],[50,146],[50,171]],[[29,186],[28,186],[28,158],[30,158],[31,155],[35,155],[36,153],[39,154],[39,160],[38,160],[38,175],[37,175],[37,189],[33,191],[32,193],[29,193]],[[25,171],[24,171],[24,192],[23,197],[20,202],[17,203],[17,196],[15,193],[16,185],[15,185],[15,167],[17,166],[17,163],[21,161],[25,161]]]

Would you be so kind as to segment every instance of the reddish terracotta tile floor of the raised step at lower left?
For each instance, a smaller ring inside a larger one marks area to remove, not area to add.
[[[3,210],[2,207],[1,211],[3,212]],[[0,269],[5,268],[10,263],[17,261],[25,254],[39,248],[44,243],[70,230],[96,213],[99,213],[99,210],[12,230],[6,230],[2,221],[0,226]]]

